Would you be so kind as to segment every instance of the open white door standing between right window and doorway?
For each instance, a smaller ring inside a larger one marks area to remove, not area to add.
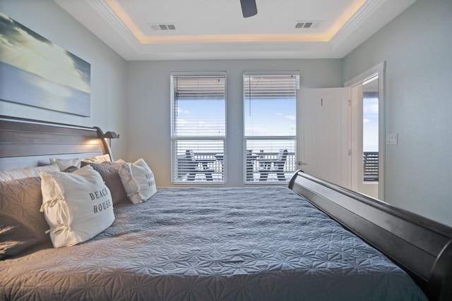
[[[350,88],[300,89],[298,168],[350,188]]]

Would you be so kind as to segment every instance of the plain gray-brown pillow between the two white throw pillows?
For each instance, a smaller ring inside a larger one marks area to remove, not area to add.
[[[102,176],[105,185],[107,185],[108,189],[112,193],[113,204],[117,204],[127,198],[126,190],[124,190],[121,178],[119,178],[119,168],[122,165],[121,163],[105,161],[101,164],[95,164],[82,161],[81,166],[83,167],[88,164],[93,167],[95,171],[100,173],[100,176]]]

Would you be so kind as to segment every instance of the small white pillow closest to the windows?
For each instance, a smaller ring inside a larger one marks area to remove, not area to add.
[[[119,178],[133,204],[140,204],[157,192],[154,173],[143,159],[122,164],[119,168]]]

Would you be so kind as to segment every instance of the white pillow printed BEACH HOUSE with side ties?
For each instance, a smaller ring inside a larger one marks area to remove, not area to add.
[[[42,207],[54,247],[93,238],[114,221],[112,195],[90,165],[73,173],[40,173]]]

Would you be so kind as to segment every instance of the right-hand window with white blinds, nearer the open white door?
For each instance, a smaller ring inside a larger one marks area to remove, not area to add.
[[[244,73],[244,182],[287,182],[296,168],[298,72]]]

